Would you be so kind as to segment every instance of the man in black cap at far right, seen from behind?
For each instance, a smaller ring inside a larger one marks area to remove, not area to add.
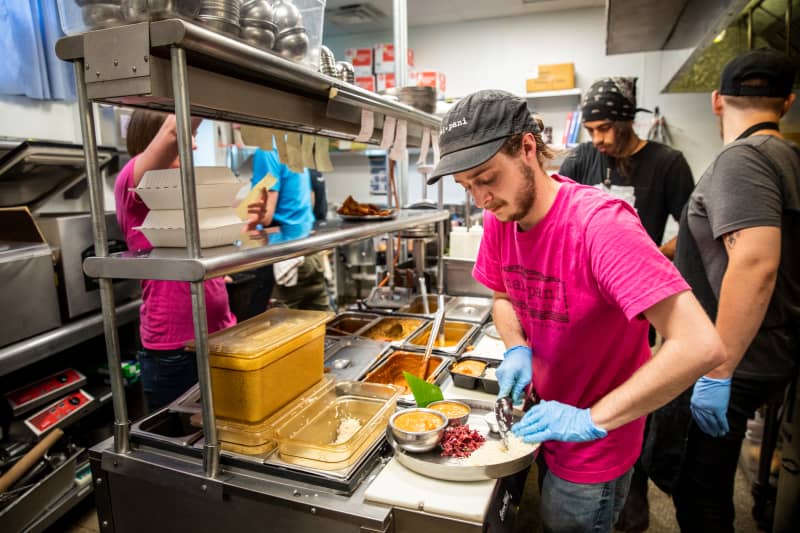
[[[683,531],[733,531],[747,419],[782,398],[800,358],[800,148],[778,121],[795,66],[768,49],[729,62],[711,95],[724,147],[681,216],[675,264],[725,344],[726,362],[653,414],[645,463]]]

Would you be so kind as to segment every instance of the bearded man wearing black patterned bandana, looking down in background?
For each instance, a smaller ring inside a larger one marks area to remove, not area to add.
[[[692,171],[679,151],[636,135],[637,111],[636,78],[594,82],[581,103],[592,140],[567,155],[559,174],[632,201],[647,234],[672,259],[675,239],[662,245],[664,227],[670,215],[680,217],[694,188]]]

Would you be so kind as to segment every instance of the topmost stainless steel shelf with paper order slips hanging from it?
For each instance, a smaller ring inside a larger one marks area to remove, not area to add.
[[[179,19],[132,24],[65,37],[56,53],[84,60],[90,100],[173,110],[169,49],[186,50],[192,115],[353,139],[361,110],[408,122],[408,144],[441,119],[350,83]],[[146,57],[146,59],[145,59]],[[234,96],[235,95],[235,96]]]

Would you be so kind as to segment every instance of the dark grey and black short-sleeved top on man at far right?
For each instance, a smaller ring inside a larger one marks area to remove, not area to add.
[[[771,135],[728,144],[697,182],[687,220],[714,304],[728,268],[722,237],[752,227],[781,229],[775,290],[736,375],[793,376],[800,361],[800,147]],[[678,270],[692,283],[687,265],[677,259]]]

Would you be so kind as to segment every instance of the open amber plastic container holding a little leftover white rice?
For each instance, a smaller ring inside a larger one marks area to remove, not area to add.
[[[392,385],[336,383],[279,423],[275,436],[281,459],[325,470],[352,465],[360,459],[357,452],[381,437],[399,395]],[[352,421],[357,429],[345,431]]]

